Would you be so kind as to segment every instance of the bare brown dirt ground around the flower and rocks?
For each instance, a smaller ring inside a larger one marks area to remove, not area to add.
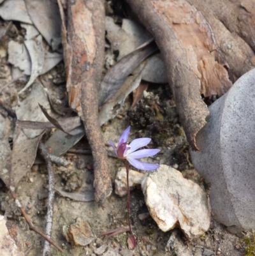
[[[53,70],[45,77],[54,79],[57,73]],[[11,91],[4,95],[10,98]],[[7,99],[6,98],[6,99]],[[145,97],[130,110],[132,98],[126,103],[121,115],[102,127],[105,142],[109,139],[117,142],[124,129],[131,124],[129,140],[138,137],[151,137],[152,146],[161,149],[161,152],[148,162],[167,164],[180,170],[184,177],[196,181],[201,188],[208,192],[208,185],[203,182],[193,169],[189,158],[189,146],[179,122],[175,102],[168,86],[149,86]],[[74,147],[75,149],[88,148],[84,138]],[[110,147],[107,147],[110,149]],[[66,153],[64,158],[71,161],[71,167],[55,166],[55,186],[62,187],[66,192],[92,190],[93,170],[92,156],[90,154]],[[112,181],[114,186],[115,174],[119,167],[124,167],[117,158],[109,157]],[[47,213],[47,169],[42,163],[34,165],[17,186],[17,195],[36,227],[45,229]],[[15,206],[11,195],[0,183],[0,213],[4,214],[19,231],[24,242],[25,255],[41,255],[44,239],[29,230],[24,217]],[[179,229],[162,232],[158,229],[151,217],[140,220],[138,215],[147,213],[147,206],[142,191],[137,188],[131,192],[131,225],[136,237],[137,247],[129,250],[127,235],[120,234],[108,238],[99,236],[103,231],[126,226],[126,197],[119,197],[113,192],[104,209],[98,207],[96,202],[76,202],[62,197],[56,193],[54,202],[54,225],[52,239],[64,249],[58,252],[52,246],[52,255],[96,255],[100,246],[99,255],[244,255],[244,243],[238,236],[230,234],[225,227],[217,223],[212,215],[210,229],[200,238],[188,241]],[[71,246],[64,237],[63,230],[75,223],[77,218],[88,222],[96,238],[87,246]],[[168,240],[175,237],[174,243]],[[96,250],[96,251],[95,251]]]

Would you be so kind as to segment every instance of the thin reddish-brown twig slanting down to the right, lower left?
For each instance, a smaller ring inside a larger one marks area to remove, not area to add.
[[[60,252],[63,252],[62,248],[59,245],[57,245],[57,243],[55,243],[55,241],[53,241],[52,239],[50,239],[50,237],[46,236],[43,232],[41,232],[40,230],[36,229],[36,227],[34,227],[34,225],[31,222],[29,216],[27,216],[27,213],[25,213],[24,208],[21,206],[20,201],[17,199],[17,195],[15,193],[15,188],[13,186],[10,187],[10,192],[11,192],[11,196],[15,200],[16,205],[18,206],[18,208],[20,209],[22,215],[24,216],[25,220],[27,221],[27,224],[29,225],[29,229],[33,230],[37,234],[40,234],[40,236],[42,236],[44,239],[46,239],[52,245],[54,245],[55,248],[57,248],[57,250],[59,250]]]

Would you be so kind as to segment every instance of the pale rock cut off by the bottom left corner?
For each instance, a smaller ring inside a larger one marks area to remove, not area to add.
[[[17,247],[11,238],[6,227],[6,219],[0,215],[0,255],[4,256],[24,256],[24,252]]]

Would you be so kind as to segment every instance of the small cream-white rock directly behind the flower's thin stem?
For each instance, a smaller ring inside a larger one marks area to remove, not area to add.
[[[140,186],[145,174],[129,170],[129,190],[133,190],[136,186]],[[115,193],[120,197],[127,194],[127,174],[126,168],[121,168],[115,178]]]

